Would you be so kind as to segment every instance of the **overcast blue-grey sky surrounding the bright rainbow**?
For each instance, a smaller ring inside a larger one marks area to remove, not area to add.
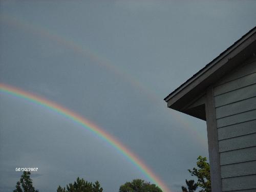
[[[0,81],[100,126],[173,192],[208,157],[206,123],[163,98],[255,26],[255,1],[1,1]],[[0,94],[0,190],[21,172],[40,192],[76,177],[104,191],[148,180],[71,120]]]

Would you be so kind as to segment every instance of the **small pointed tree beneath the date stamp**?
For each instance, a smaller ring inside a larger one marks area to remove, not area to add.
[[[22,186],[20,186],[20,184]],[[30,172],[23,172],[20,180],[16,184],[16,189],[13,192],[38,192],[33,187],[32,179],[30,178]]]

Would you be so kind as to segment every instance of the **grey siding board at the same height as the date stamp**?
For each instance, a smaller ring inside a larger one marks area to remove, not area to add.
[[[256,161],[221,166],[221,178],[256,175]],[[256,182],[256,181],[255,181]]]

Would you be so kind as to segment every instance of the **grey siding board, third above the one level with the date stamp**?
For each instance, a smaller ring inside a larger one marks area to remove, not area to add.
[[[256,133],[256,120],[233,124],[218,129],[219,140]]]

